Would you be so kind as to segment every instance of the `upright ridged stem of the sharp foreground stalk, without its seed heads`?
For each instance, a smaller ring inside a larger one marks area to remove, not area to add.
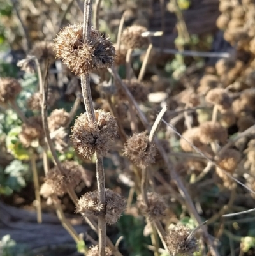
[[[91,18],[92,18],[92,0],[84,1],[84,24],[82,38],[84,42],[91,41]],[[91,88],[89,85],[89,75],[83,74],[82,77],[82,95],[84,105],[87,111],[88,119],[96,124],[96,116],[91,97]],[[98,183],[98,203],[105,206],[105,172],[103,168],[103,158],[96,153],[96,179]],[[99,255],[105,256],[106,247],[106,223],[105,211],[98,216],[98,245]]]

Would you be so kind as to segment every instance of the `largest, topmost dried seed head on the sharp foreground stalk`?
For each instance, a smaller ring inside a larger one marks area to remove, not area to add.
[[[91,29],[91,42],[82,42],[82,24],[64,27],[55,39],[57,57],[76,75],[91,73],[98,68],[109,68],[115,59],[115,48],[109,38]]]

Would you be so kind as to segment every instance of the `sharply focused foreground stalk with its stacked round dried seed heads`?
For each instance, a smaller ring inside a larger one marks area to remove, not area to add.
[[[75,150],[84,158],[96,154],[96,177],[98,190],[85,194],[77,204],[77,211],[84,217],[98,216],[98,254],[108,255],[106,250],[106,222],[115,223],[122,211],[122,198],[111,190],[105,191],[103,156],[108,152],[111,140],[117,135],[117,122],[104,110],[94,111],[89,73],[109,68],[115,59],[115,49],[108,38],[91,27],[92,1],[84,2],[84,23],[64,27],[55,39],[57,57],[76,75],[81,77],[82,94],[86,109],[72,128],[71,142]],[[114,216],[114,218],[113,218]],[[114,220],[113,222],[110,219]],[[91,248],[95,250],[95,248]],[[94,255],[94,254],[93,254]]]

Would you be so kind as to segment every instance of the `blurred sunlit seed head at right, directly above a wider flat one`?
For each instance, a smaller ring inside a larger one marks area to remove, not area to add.
[[[222,88],[211,89],[207,93],[205,100],[214,105],[220,105],[222,109],[230,109],[232,104],[232,99],[230,98],[230,96],[228,96],[226,90]]]

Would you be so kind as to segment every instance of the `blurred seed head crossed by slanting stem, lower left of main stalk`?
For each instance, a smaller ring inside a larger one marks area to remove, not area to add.
[[[60,174],[57,168],[50,169],[45,178],[45,183],[51,187],[55,195],[62,196],[66,193],[68,186],[76,188],[82,179],[82,167],[74,161],[62,163],[64,173]]]

